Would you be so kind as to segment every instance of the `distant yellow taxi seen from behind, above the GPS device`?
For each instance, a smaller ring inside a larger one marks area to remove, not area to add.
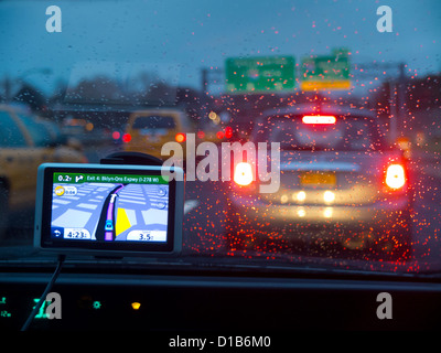
[[[125,151],[143,152],[161,160],[166,142],[179,142],[186,153],[186,136],[194,131],[189,116],[174,108],[157,108],[138,110],[130,115],[126,132],[122,136]]]

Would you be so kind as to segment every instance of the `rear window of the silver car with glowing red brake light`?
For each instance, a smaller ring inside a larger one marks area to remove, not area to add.
[[[375,151],[386,146],[375,121],[366,117],[270,116],[254,133],[257,141],[279,142],[281,150]]]

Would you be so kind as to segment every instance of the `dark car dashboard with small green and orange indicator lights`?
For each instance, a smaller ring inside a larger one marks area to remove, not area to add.
[[[2,269],[3,331],[22,328],[51,276],[51,265]],[[293,330],[441,329],[441,284],[430,276],[111,263],[94,270],[67,261],[51,290],[61,298],[60,318],[50,319],[43,306],[30,331],[139,330],[165,339],[259,332],[275,334],[275,343]],[[378,313],[380,293],[390,295],[390,318]]]

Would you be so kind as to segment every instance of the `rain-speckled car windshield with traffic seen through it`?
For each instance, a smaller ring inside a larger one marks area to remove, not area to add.
[[[1,261],[51,257],[41,163],[170,165],[173,142],[183,248],[163,263],[440,274],[438,0],[7,0],[0,19]]]

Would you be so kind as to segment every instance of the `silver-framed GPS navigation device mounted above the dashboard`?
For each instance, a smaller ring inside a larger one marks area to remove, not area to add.
[[[41,164],[34,245],[58,254],[179,254],[183,189],[175,167]]]

